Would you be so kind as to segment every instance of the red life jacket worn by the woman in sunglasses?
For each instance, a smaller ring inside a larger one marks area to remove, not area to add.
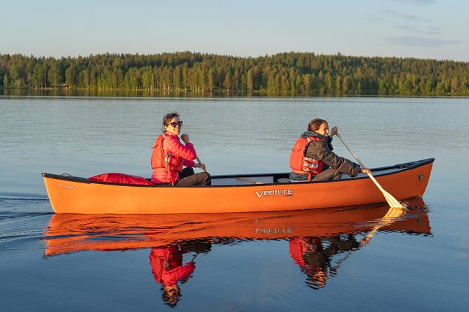
[[[176,177],[177,174],[171,174],[171,171],[176,171],[177,173],[182,171],[182,164],[183,159],[173,153],[165,152],[163,148],[163,141],[166,139],[165,134],[161,134],[156,138],[156,141],[153,145],[153,153],[151,155],[151,168],[157,169],[164,169],[168,171],[168,180],[171,181],[172,184],[175,183],[175,179],[172,177]]]

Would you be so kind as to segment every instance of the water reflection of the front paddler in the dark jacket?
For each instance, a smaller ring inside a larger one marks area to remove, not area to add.
[[[301,271],[308,276],[306,285],[314,289],[324,288],[329,276],[335,276],[338,267],[331,267],[331,257],[338,253],[358,249],[360,243],[352,234],[327,239],[295,237],[290,239],[290,256]]]

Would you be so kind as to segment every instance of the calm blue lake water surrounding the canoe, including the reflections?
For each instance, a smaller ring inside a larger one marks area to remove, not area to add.
[[[212,175],[289,171],[315,117],[369,167],[436,160],[423,198],[386,225],[384,205],[53,214],[41,172],[149,177],[170,111]],[[466,311],[468,120],[469,99],[0,97],[1,309]]]

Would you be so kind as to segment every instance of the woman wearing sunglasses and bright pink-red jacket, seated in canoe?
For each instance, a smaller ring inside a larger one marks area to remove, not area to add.
[[[196,150],[187,134],[181,133],[182,120],[177,112],[163,118],[163,134],[156,138],[151,154],[151,183],[171,185],[210,185],[207,172],[194,174],[193,167],[205,169],[204,164],[196,164]],[[181,140],[184,144],[181,143]],[[183,167],[186,167],[183,169]]]

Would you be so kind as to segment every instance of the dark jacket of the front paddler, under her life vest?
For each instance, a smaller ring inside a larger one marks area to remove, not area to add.
[[[311,141],[306,148],[306,157],[311,157],[324,162],[322,170],[324,171],[328,167],[335,169],[341,173],[346,173],[349,176],[357,176],[360,173],[360,165],[351,162],[350,160],[337,156],[332,150],[332,138],[330,136],[321,136],[317,132],[305,132],[301,134],[302,138],[308,138],[314,136],[320,139],[325,139],[325,142],[320,140]]]

